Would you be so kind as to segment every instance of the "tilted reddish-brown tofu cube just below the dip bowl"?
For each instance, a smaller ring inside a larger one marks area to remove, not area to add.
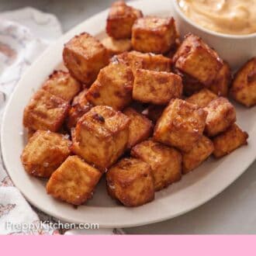
[[[173,57],[175,68],[203,85],[210,85],[223,67],[223,61],[199,36],[189,33]]]

